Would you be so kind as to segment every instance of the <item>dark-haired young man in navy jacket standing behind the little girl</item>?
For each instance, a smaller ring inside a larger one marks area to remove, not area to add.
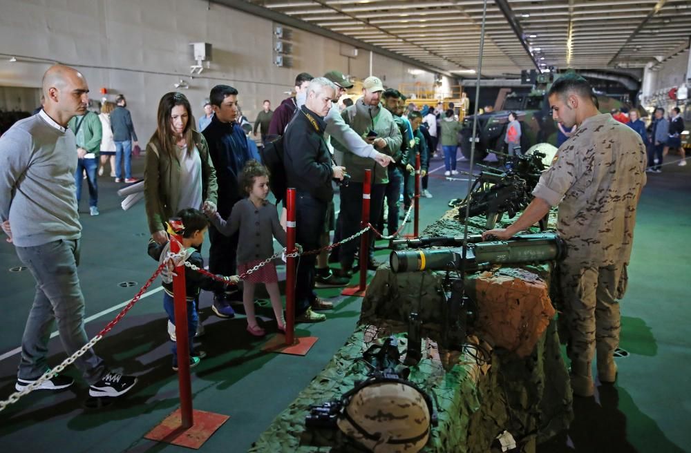
[[[247,136],[238,124],[238,90],[232,86],[216,85],[211,88],[209,102],[214,109],[214,116],[202,135],[207,139],[211,162],[216,168],[218,213],[226,219],[236,202],[243,199],[243,193],[238,188],[238,175],[251,157],[247,148]],[[235,275],[238,235],[225,236],[212,225],[209,227],[209,239],[209,272],[223,276]],[[237,293],[236,297],[220,290],[214,292],[214,305],[211,309],[216,316],[235,316],[230,300],[242,300],[242,294],[234,292]]]

